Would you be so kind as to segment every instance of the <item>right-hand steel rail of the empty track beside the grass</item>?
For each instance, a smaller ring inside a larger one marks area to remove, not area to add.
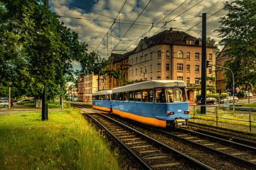
[[[101,116],[104,117],[104,118],[107,118],[108,120],[111,120],[111,121],[114,122],[114,123],[117,123],[117,124],[119,124],[119,125],[122,125],[124,128],[127,128],[127,129],[129,129],[129,130],[132,130],[133,132],[136,132],[137,134],[141,135],[142,137],[145,137],[145,138],[148,139],[148,140],[151,140],[151,141],[155,142],[157,145],[159,145],[159,147],[164,147],[165,149],[170,150],[171,152],[175,152],[176,154],[181,155],[181,157],[187,159],[187,160],[190,161],[190,162],[193,162],[193,164],[198,165],[198,166],[201,167],[202,169],[213,169],[212,167],[210,167],[210,166],[208,166],[208,165],[206,165],[206,164],[203,164],[202,162],[199,162],[198,160],[193,159],[192,157],[189,157],[188,155],[183,154],[182,152],[179,152],[178,150],[176,150],[176,149],[174,149],[174,148],[172,148],[172,147],[169,147],[168,145],[166,145],[166,144],[164,144],[164,143],[162,143],[162,142],[159,142],[158,140],[155,140],[154,138],[149,137],[148,135],[145,135],[144,133],[139,132],[138,130],[135,130],[134,128],[131,128],[131,127],[127,126],[127,125],[124,125],[124,123],[120,123],[120,122],[118,122],[117,120],[114,120],[114,119],[112,119],[112,118],[110,118],[110,117],[108,117],[108,116],[106,116],[106,115],[102,115],[102,114],[101,114]]]

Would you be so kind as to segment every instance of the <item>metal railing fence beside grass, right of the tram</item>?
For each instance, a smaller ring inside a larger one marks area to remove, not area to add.
[[[215,122],[228,123],[232,125],[242,125],[248,127],[250,132],[256,128],[256,108],[234,107],[233,106],[206,106],[206,114],[200,113],[200,106],[190,106],[190,113],[195,119]]]

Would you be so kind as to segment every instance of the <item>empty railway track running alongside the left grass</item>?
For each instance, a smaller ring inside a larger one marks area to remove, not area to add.
[[[103,114],[86,116],[127,149],[144,169],[213,169],[154,138]]]

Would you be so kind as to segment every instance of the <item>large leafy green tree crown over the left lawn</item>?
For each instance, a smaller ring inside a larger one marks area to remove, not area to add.
[[[65,94],[73,79],[73,60],[87,53],[78,34],[58,21],[40,0],[0,4],[0,84],[16,86],[27,96]]]

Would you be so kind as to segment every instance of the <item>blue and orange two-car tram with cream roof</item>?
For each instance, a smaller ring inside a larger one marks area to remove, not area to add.
[[[186,127],[189,108],[184,81],[151,80],[108,91],[111,101],[102,100],[106,91],[93,94],[93,108],[111,111],[140,123],[166,128]],[[101,96],[101,99],[97,96]],[[110,103],[107,103],[110,102]],[[107,109],[107,110],[106,110]]]

